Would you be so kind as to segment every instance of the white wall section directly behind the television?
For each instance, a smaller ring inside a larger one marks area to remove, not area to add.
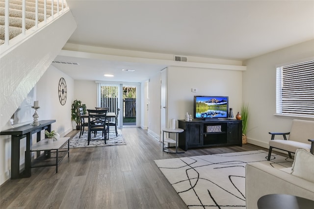
[[[167,124],[175,118],[178,127],[178,119],[184,119],[186,112],[193,116],[194,95],[229,96],[235,115],[242,102],[242,71],[168,67]]]

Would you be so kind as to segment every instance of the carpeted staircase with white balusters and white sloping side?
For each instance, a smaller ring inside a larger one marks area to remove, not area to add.
[[[76,27],[65,0],[0,0],[0,130]]]

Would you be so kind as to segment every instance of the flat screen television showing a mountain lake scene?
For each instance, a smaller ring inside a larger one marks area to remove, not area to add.
[[[194,96],[194,119],[228,118],[228,96]]]

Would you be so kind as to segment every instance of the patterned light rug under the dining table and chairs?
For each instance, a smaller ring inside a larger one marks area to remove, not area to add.
[[[92,140],[89,142],[89,145],[87,145],[87,131],[84,131],[84,134],[79,137],[79,132],[70,139],[70,148],[74,147],[91,147],[91,146],[111,146],[111,145],[125,145],[126,140],[122,136],[122,132],[120,129],[118,129],[118,137],[116,137],[115,130],[109,131],[109,139],[106,140],[106,144],[104,140],[103,134],[101,132],[98,132],[96,137],[94,137],[94,134],[92,133]]]

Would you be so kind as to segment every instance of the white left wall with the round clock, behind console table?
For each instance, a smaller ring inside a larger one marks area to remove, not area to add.
[[[63,77],[67,84],[67,101],[65,105],[61,105],[58,98],[58,84],[59,79]],[[53,66],[50,66],[48,70],[43,74],[40,80],[37,82],[34,88],[34,98],[31,100],[38,100],[40,109],[38,109],[38,120],[55,119],[56,122],[52,123],[52,130],[56,130],[60,136],[64,136],[72,131],[71,124],[71,105],[73,100],[73,79],[60,70],[57,70]],[[26,99],[29,99],[28,97]],[[28,102],[29,103],[29,102]],[[33,101],[30,101],[33,103]],[[19,107],[25,109],[25,107]],[[31,109],[34,113],[34,110]],[[21,118],[22,121],[27,121],[25,124],[32,122],[32,117],[25,116]],[[19,125],[19,124],[17,124]],[[3,130],[12,128],[9,125],[9,121],[4,126]],[[42,131],[42,138],[44,133]],[[33,142],[36,141],[36,134],[33,135]],[[21,139],[21,166],[23,167],[24,152],[25,152],[26,140]],[[0,136],[0,184],[3,184],[10,178],[9,173],[11,169],[11,136]]]

